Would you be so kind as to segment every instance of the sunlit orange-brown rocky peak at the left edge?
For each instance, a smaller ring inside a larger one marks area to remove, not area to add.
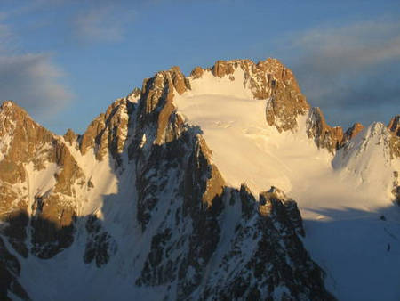
[[[33,163],[36,170],[41,170],[45,162],[56,163],[61,169],[57,175],[59,190],[71,194],[67,182],[82,175],[76,160],[57,136],[37,125],[13,102],[4,102],[0,108],[0,137],[2,142],[9,142],[3,148],[0,180],[21,183],[26,181],[24,164]]]

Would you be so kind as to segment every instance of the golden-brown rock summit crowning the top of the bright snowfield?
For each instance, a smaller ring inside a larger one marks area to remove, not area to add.
[[[241,70],[243,73],[236,73]],[[309,109],[306,98],[290,69],[280,61],[268,58],[257,63],[251,60],[216,61],[212,68],[196,67],[190,73],[193,81],[211,72],[213,77],[227,77],[232,82],[243,78],[243,88],[253,99],[268,101],[266,119],[269,126],[275,126],[279,132],[297,128],[297,117],[305,115]]]

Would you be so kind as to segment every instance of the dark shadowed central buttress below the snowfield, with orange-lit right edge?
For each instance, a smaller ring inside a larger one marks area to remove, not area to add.
[[[180,139],[164,145],[165,158],[168,149],[177,151],[182,142],[193,145],[169,167],[170,172],[176,168],[172,175],[178,189],[165,198],[164,187],[171,182],[165,181],[163,165],[151,157],[148,162],[154,165],[146,170],[153,172],[146,182],[137,183],[137,187],[153,187],[152,199],[143,199],[138,207],[147,213],[144,219],[138,216],[143,232],[148,231],[148,224],[158,227],[136,284],[176,283],[171,294],[177,299],[334,299],[324,289],[323,271],[298,238],[304,229],[295,202],[282,191],[271,190],[260,196],[265,201],[259,206],[244,185],[240,191],[226,186],[198,134],[188,130]],[[154,148],[160,151],[156,144]],[[183,173],[181,161],[186,162]],[[168,205],[160,214],[161,202]],[[229,210],[236,215],[228,216]],[[227,223],[228,230],[224,229]],[[224,245],[222,239],[231,242]],[[285,288],[282,296],[278,287]]]

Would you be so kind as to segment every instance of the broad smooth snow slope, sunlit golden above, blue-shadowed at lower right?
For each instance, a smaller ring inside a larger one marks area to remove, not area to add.
[[[369,126],[333,154],[308,138],[308,114],[294,131],[268,126],[268,101],[252,97],[242,69],[234,77],[205,71],[174,99],[185,120],[204,132],[222,176],[256,194],[273,185],[296,199],[306,246],[340,300],[399,299],[400,214],[391,190],[400,165],[390,158],[386,127]]]

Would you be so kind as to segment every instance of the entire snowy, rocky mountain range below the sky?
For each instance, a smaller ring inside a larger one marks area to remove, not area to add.
[[[398,300],[400,115],[329,126],[275,59],[157,72],[84,134],[0,107],[8,300]]]

